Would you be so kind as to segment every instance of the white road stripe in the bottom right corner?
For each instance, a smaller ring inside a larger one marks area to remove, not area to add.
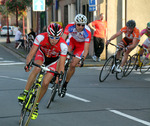
[[[117,115],[126,117],[126,118],[128,118],[128,119],[134,120],[134,121],[136,121],[136,122],[142,123],[142,124],[144,124],[144,125],[146,125],[146,126],[150,126],[150,122],[144,121],[144,120],[139,119],[139,118],[136,118],[136,117],[134,117],[134,116],[131,116],[131,115],[122,113],[122,112],[117,111],[117,110],[110,110],[110,109],[109,109],[109,111],[112,112],[112,113],[115,113],[115,114],[117,114]]]

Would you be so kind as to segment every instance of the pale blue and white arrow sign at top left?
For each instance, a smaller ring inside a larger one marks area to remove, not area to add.
[[[45,0],[33,0],[33,11],[45,11]]]

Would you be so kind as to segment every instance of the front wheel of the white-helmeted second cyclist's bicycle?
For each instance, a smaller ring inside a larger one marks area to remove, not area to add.
[[[51,91],[51,96],[50,96],[50,99],[49,99],[48,104],[47,104],[47,108],[49,108],[51,102],[54,101],[57,89],[58,89],[58,85],[56,83],[54,83],[53,89]]]

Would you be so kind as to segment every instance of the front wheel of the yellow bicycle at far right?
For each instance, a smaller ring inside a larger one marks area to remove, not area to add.
[[[128,63],[128,66],[126,66],[126,70],[124,72],[124,76],[127,77],[132,70],[136,67],[136,63],[138,60],[138,54],[134,54],[133,56],[130,57],[130,63]]]

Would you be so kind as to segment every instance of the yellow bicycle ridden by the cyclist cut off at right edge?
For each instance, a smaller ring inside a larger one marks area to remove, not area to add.
[[[132,57],[131,57],[131,64],[130,64],[130,71],[127,75],[129,75],[133,69],[135,68],[135,70],[137,70],[138,68],[140,68],[140,72],[143,74],[145,72],[147,72],[150,67],[148,65],[150,65],[150,61],[148,58],[146,58],[146,55],[149,53],[148,50],[143,47],[142,45],[138,45],[139,46],[139,50],[137,53],[135,53]],[[144,52],[141,54],[141,51]]]

